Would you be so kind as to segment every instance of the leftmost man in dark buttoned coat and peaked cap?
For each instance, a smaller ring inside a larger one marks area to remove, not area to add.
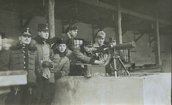
[[[7,105],[32,105],[35,100],[37,48],[32,43],[32,35],[29,28],[19,36],[16,45],[10,48],[9,70],[27,71],[27,85],[11,88]]]

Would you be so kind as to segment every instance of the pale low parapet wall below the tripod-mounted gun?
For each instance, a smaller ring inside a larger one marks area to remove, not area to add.
[[[64,77],[52,105],[170,105],[171,74]]]

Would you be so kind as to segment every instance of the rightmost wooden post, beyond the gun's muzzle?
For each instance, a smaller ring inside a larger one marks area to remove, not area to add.
[[[156,51],[155,51],[155,63],[157,66],[161,66],[161,49],[160,49],[160,34],[159,34],[159,20],[156,18]]]

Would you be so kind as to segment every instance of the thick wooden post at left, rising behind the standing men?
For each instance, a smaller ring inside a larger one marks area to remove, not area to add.
[[[48,23],[49,23],[49,31],[50,31],[50,38],[55,37],[55,16],[54,16],[54,7],[55,7],[55,0],[48,1]]]

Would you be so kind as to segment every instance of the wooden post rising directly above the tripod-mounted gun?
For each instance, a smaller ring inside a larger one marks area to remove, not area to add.
[[[117,37],[117,44],[122,44],[122,16],[121,16],[121,7],[120,7],[120,0],[118,0],[118,37]]]

